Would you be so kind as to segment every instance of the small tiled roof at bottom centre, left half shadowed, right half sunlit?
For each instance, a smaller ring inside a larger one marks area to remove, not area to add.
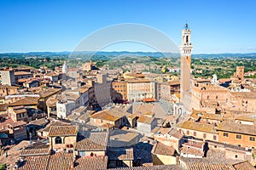
[[[108,160],[133,160],[133,148],[108,150]]]

